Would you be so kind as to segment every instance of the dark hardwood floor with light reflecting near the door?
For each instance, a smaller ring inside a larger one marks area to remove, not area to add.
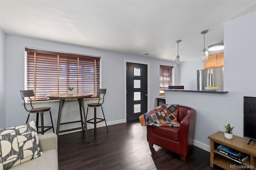
[[[89,141],[81,132],[63,134],[58,139],[60,170],[212,170],[210,153],[193,146],[186,163],[180,156],[154,145],[149,148],[146,127],[139,122],[88,130]],[[220,169],[214,166],[214,169]]]

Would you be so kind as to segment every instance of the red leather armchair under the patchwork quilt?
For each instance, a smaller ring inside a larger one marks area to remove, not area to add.
[[[156,144],[179,154],[180,160],[185,162],[194,140],[196,110],[180,105],[178,122],[180,127],[147,126],[147,140],[149,147]]]

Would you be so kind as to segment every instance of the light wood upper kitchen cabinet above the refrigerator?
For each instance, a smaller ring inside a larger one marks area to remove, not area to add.
[[[204,63],[204,68],[224,67],[224,53],[216,53],[209,55],[208,63]]]

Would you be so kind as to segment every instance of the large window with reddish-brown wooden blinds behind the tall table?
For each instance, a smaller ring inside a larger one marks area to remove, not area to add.
[[[93,93],[100,88],[100,57],[40,49],[26,50],[25,85],[34,90],[34,101],[48,100],[48,94]]]

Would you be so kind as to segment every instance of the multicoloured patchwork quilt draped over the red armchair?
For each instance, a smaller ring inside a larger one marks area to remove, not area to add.
[[[154,108],[152,111],[140,115],[142,126],[153,127],[180,127],[178,122],[179,105],[168,104]]]

